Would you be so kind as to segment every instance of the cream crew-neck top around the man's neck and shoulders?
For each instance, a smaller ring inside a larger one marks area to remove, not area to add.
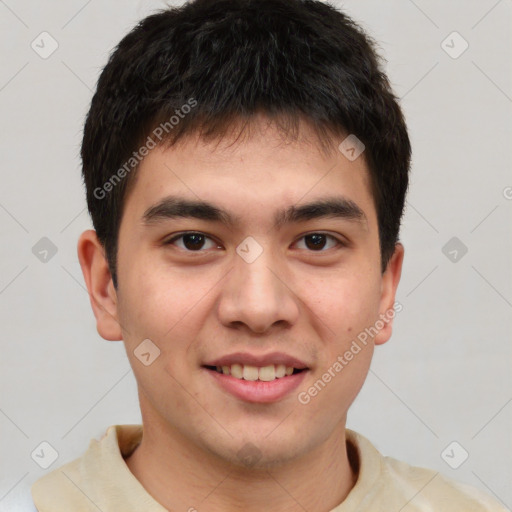
[[[507,512],[472,487],[430,469],[382,456],[365,437],[346,430],[359,474],[349,495],[331,512]],[[39,512],[166,512],[124,461],[142,438],[142,425],[113,425],[100,441],[31,488]],[[314,512],[314,511],[311,511]]]

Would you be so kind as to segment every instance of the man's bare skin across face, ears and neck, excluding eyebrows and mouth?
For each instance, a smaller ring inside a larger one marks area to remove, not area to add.
[[[347,411],[392,321],[307,405],[297,395],[392,309],[404,250],[396,245],[382,274],[364,153],[351,162],[338,150],[321,152],[306,124],[298,141],[262,118],[251,126],[236,143],[191,136],[144,159],[119,230],[117,289],[94,231],[82,234],[78,254],[98,332],[124,341],[137,379],[144,436],[126,463],[146,490],[173,511],[327,512],[357,480]],[[169,195],[214,203],[237,223],[144,222]],[[356,203],[363,221],[273,227],[276,210],[333,196]],[[164,243],[183,231],[209,238],[196,251],[183,238]],[[313,233],[335,238],[315,249],[304,238]],[[252,263],[236,253],[248,236],[263,249]],[[149,366],[134,355],[147,338],[161,351]],[[274,403],[235,398],[201,367],[233,352],[273,351],[309,368],[299,389]],[[247,443],[259,455],[252,465],[237,455]]]

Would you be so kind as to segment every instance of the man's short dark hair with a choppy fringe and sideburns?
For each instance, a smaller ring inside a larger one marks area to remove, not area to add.
[[[194,0],[143,19],[98,79],[81,148],[87,204],[114,285],[123,205],[147,148],[194,132],[220,140],[258,113],[289,137],[306,121],[324,149],[348,134],[364,143],[384,272],[411,147],[382,61],[361,27],[316,0]]]

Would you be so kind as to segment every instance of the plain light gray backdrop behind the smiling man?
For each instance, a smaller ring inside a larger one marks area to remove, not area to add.
[[[414,153],[403,311],[376,349],[348,426],[382,453],[510,508],[512,2],[336,5],[379,42]],[[15,510],[37,478],[81,455],[108,425],[140,422],[123,345],[96,333],[76,256],[91,226],[78,154],[110,50],[163,6],[0,1],[1,511]],[[46,59],[31,47],[51,48],[43,31],[58,43]],[[457,58],[464,42],[454,31],[469,44]],[[54,255],[38,252],[43,237]],[[58,452],[46,470],[31,458],[42,441]],[[468,459],[452,469],[446,461],[457,465],[462,450]]]

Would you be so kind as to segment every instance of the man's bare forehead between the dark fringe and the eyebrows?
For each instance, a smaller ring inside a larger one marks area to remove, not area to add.
[[[349,160],[338,150],[343,137],[326,149],[307,124],[297,137],[286,138],[264,120],[242,135],[234,133],[238,136],[214,141],[194,134],[151,150],[139,166],[126,209],[144,217],[166,197],[181,197],[222,205],[220,216],[230,221],[245,214],[267,216],[276,227],[290,218],[293,205],[341,198],[345,205],[338,201],[338,206],[353,206],[352,213],[360,209],[366,219],[375,216],[364,154]]]

